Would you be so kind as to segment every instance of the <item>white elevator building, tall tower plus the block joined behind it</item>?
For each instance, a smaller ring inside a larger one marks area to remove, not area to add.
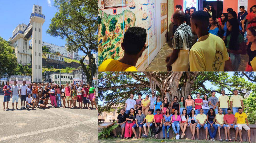
[[[29,24],[19,24],[14,29],[12,38],[9,38],[15,47],[18,63],[29,64],[31,62],[31,53],[33,53],[32,82],[42,81],[42,25],[44,22],[45,16],[42,14],[42,7],[33,5]],[[30,39],[33,47],[28,45]]]

